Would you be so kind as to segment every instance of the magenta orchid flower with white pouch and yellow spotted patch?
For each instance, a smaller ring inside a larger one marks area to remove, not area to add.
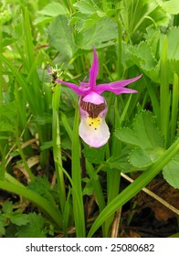
[[[99,72],[99,60],[95,48],[93,48],[93,63],[89,69],[89,81],[84,80],[80,85],[57,79],[79,94],[79,136],[91,147],[100,147],[106,144],[110,138],[110,131],[105,122],[108,111],[107,102],[100,94],[103,91],[112,91],[116,95],[121,93],[135,93],[137,91],[125,88],[126,85],[139,80],[142,75],[130,80],[120,80],[96,85]]]

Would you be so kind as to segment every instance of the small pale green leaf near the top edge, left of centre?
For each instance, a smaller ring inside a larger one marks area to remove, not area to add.
[[[60,3],[49,3],[43,9],[37,12],[38,14],[44,16],[59,16],[59,15],[68,15],[68,9],[61,5]]]

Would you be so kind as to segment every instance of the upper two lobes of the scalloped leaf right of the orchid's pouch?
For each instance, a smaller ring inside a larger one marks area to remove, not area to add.
[[[158,148],[164,145],[153,114],[147,111],[136,114],[132,130],[121,128],[116,131],[115,135],[122,142],[139,146],[142,149]]]

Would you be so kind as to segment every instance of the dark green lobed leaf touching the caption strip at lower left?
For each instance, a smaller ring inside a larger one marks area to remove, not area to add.
[[[28,214],[29,223],[19,227],[16,236],[18,238],[46,238],[44,219],[36,213]]]

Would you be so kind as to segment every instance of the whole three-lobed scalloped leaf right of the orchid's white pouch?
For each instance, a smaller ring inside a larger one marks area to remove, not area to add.
[[[133,129],[121,128],[115,135],[122,142],[134,146],[128,160],[135,169],[152,165],[156,157],[163,154],[164,140],[151,112],[139,112],[133,121]]]

